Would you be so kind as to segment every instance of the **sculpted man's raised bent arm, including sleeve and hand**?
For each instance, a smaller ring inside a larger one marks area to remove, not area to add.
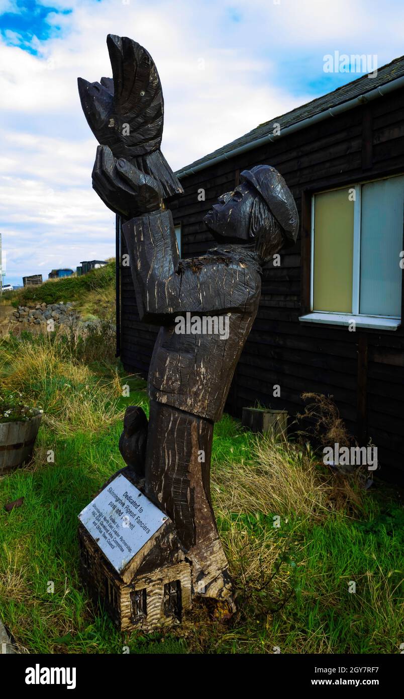
[[[259,275],[234,255],[209,254],[203,264],[201,258],[198,264],[180,260],[171,212],[161,208],[161,189],[150,175],[99,146],[92,179],[106,206],[129,219],[122,228],[140,320],[161,325],[186,312],[222,315],[252,308]]]

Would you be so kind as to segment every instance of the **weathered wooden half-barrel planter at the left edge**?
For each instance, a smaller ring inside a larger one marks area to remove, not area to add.
[[[42,413],[33,410],[27,420],[0,422],[0,475],[31,461]]]

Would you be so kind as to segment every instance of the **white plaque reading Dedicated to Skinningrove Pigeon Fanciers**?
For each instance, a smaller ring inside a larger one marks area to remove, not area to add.
[[[78,519],[115,570],[122,572],[168,517],[120,473]]]

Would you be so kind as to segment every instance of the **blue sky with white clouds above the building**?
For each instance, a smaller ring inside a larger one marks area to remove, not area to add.
[[[325,72],[324,56],[403,55],[403,29],[401,0],[0,0],[4,282],[115,254],[77,89],[112,74],[107,34],[156,62],[176,170],[361,75]]]

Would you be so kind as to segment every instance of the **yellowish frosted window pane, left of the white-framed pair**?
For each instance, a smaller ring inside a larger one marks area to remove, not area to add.
[[[315,195],[313,310],[352,313],[354,202],[349,190]]]

